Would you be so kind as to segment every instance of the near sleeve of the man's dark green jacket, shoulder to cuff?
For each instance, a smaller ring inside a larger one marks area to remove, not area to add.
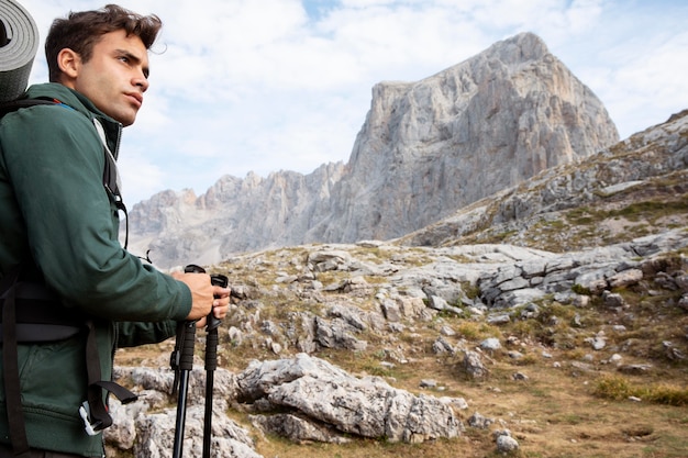
[[[3,149],[29,246],[65,304],[112,321],[184,320],[188,287],[120,245],[91,120],[55,105],[21,110],[4,122],[15,134]]]

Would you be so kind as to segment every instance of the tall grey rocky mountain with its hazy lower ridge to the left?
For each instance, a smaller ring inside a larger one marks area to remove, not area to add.
[[[390,239],[614,144],[604,107],[524,33],[417,82],[373,88],[347,164],[226,176],[134,205],[132,248],[160,267],[312,242]]]

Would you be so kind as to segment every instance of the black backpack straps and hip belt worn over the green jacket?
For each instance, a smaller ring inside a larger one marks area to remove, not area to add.
[[[5,114],[40,104],[56,105],[58,101],[45,99],[16,99],[0,103],[0,119]],[[98,130],[98,124],[96,125]],[[99,131],[100,134],[100,131]],[[104,138],[101,135],[101,139]],[[103,169],[103,187],[115,198],[118,209],[126,208],[122,202],[118,183],[116,164],[107,146],[103,146],[106,166]],[[129,219],[127,219],[129,220]],[[126,239],[129,242],[129,222]],[[86,331],[86,368],[88,378],[87,401],[79,409],[87,434],[96,435],[112,425],[112,417],[103,402],[103,390],[113,393],[122,403],[135,401],[137,396],[125,388],[101,380],[100,358],[96,345],[93,321],[62,305],[59,298],[44,283],[21,280],[22,271],[29,269],[32,260],[25,260],[0,281],[0,343],[2,344],[2,364],[4,367],[4,388],[8,411],[10,439],[15,455],[29,451],[24,413],[21,404],[21,387],[19,382],[19,343],[46,343],[73,337]]]

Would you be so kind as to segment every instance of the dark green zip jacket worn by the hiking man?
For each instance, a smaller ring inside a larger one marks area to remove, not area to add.
[[[27,90],[62,102],[7,114],[0,121],[0,276],[25,259],[65,306],[96,317],[103,379],[116,346],[174,335],[191,310],[191,293],[122,248],[113,196],[102,183],[104,126],[116,157],[122,125],[62,85]],[[102,435],[88,436],[78,409],[86,400],[85,339],[19,348],[22,405],[32,447],[103,456]],[[9,444],[0,366],[0,442]]]

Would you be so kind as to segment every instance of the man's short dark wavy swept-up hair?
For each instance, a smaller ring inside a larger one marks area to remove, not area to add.
[[[155,14],[144,16],[116,4],[107,4],[95,11],[70,12],[66,19],[56,19],[45,40],[49,80],[59,81],[62,70],[57,65],[57,55],[62,49],[69,48],[88,62],[100,37],[119,30],[124,30],[126,35],[138,36],[149,49],[162,26],[163,22]]]

